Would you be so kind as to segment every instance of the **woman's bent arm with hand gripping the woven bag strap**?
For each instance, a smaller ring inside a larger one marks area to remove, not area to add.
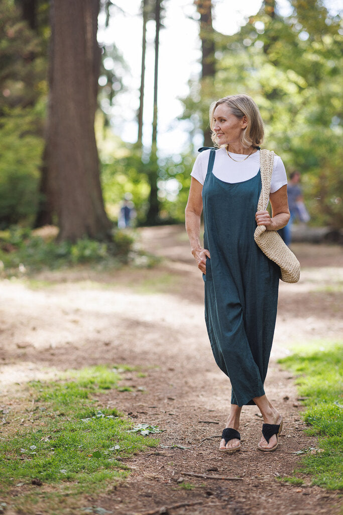
[[[287,201],[287,185],[285,184],[274,193],[270,193],[272,204],[272,217],[268,211],[258,211],[255,215],[257,225],[265,225],[267,231],[278,231],[288,224],[290,210]]]

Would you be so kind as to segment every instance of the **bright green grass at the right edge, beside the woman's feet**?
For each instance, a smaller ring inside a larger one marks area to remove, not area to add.
[[[303,418],[311,426],[307,431],[318,435],[317,452],[304,453],[299,472],[311,474],[314,485],[343,489],[343,345],[313,343],[311,350],[298,349],[279,363],[299,374]]]

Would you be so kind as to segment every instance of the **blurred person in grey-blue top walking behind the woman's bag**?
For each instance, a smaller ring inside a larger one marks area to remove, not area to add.
[[[292,171],[290,175],[290,182],[287,185],[288,207],[290,209],[291,218],[288,224],[279,231],[280,236],[288,247],[292,243],[292,226],[294,221],[308,222],[310,215],[307,212],[304,204],[302,190],[299,185],[300,172],[298,170]]]

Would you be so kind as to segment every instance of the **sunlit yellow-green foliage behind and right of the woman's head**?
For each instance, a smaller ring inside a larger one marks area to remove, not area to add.
[[[264,146],[288,173],[299,169],[312,222],[340,228],[343,178],[339,16],[321,2],[291,2],[293,13],[271,17],[263,4],[233,36],[216,35],[218,63],[210,83],[193,81],[183,118],[200,129],[212,100],[246,92],[266,124]],[[229,87],[228,87],[229,84]]]

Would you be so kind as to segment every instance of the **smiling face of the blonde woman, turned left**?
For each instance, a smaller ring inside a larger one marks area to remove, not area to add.
[[[240,143],[242,129],[248,125],[246,116],[237,118],[225,104],[215,108],[213,122],[213,131],[217,135],[219,145]]]

